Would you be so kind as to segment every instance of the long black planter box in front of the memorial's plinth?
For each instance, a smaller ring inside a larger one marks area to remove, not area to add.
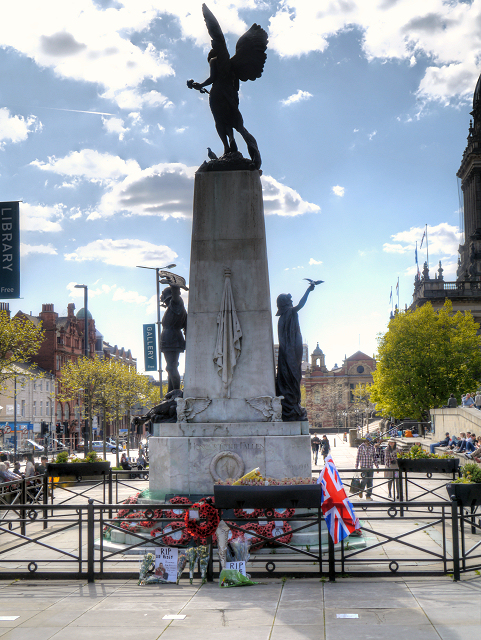
[[[317,509],[321,506],[321,485],[246,487],[216,484],[214,498],[219,509]]]

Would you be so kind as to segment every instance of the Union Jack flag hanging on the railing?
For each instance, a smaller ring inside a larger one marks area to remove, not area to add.
[[[359,518],[346,495],[331,454],[326,456],[318,484],[322,485],[321,509],[334,544],[360,529]]]

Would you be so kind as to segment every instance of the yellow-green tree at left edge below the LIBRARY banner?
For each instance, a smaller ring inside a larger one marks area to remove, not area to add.
[[[6,311],[0,311],[0,389],[18,376],[17,363],[29,362],[38,353],[43,339],[41,324],[23,315],[10,318]]]

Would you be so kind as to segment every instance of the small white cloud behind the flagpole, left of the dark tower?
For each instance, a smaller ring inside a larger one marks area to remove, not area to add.
[[[391,236],[394,244],[389,242],[384,243],[383,251],[386,253],[412,252],[414,254],[417,240],[418,262],[421,264],[423,262],[422,255],[424,255],[426,247],[426,240],[424,240],[423,247],[422,249],[420,248],[423,233],[424,227],[411,227],[409,231],[395,233]],[[461,238],[462,234],[458,227],[450,225],[447,222],[441,222],[434,227],[428,225],[429,255],[456,256]]]

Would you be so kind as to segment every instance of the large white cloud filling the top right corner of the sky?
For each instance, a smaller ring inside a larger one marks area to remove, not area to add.
[[[324,51],[347,29],[362,33],[368,60],[429,58],[418,87],[423,101],[469,96],[479,75],[481,2],[423,0],[281,0],[269,22],[269,48],[280,56]]]

